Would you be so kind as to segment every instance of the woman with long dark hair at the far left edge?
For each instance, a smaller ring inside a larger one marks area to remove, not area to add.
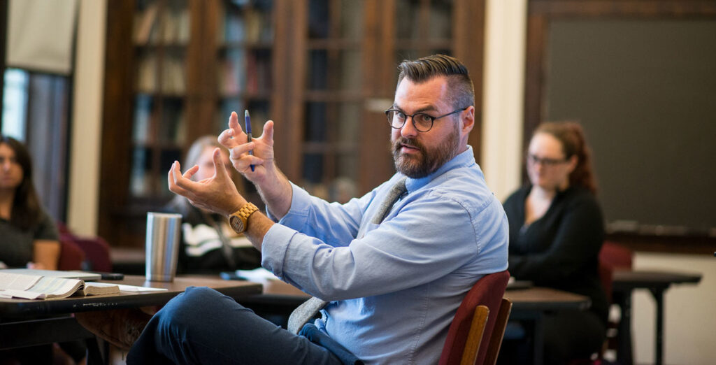
[[[0,135],[0,261],[9,267],[54,270],[59,235],[32,183],[25,146]]]

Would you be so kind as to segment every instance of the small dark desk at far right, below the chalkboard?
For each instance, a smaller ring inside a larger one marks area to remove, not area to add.
[[[664,292],[673,284],[696,284],[700,281],[701,274],[699,273],[619,269],[614,271],[612,276],[613,299],[621,309],[616,349],[616,360],[619,364],[631,365],[634,363],[632,357],[632,291],[647,289],[654,296],[657,305],[654,364],[661,365],[664,362]]]

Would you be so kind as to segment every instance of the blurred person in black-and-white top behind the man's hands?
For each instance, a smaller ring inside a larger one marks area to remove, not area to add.
[[[228,150],[216,136],[200,137],[189,148],[185,166],[198,165],[192,180],[200,181],[214,175],[213,152],[221,148],[221,167],[226,167],[231,180],[243,195],[243,178],[231,167]],[[261,266],[261,253],[243,235],[231,230],[226,217],[196,208],[183,196],[176,195],[163,211],[182,215],[181,245],[178,273],[217,273]]]

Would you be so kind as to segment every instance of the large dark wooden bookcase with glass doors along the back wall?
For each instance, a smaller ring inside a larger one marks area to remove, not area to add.
[[[465,62],[481,115],[483,0],[136,0],[107,11],[99,234],[141,246],[147,211],[196,137],[249,109],[275,122],[276,161],[315,195],[346,200],[394,173],[397,63]],[[426,24],[423,26],[423,24]],[[480,120],[470,136],[479,160]]]

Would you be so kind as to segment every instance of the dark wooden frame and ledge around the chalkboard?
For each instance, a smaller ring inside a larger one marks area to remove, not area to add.
[[[716,1],[704,0],[528,0],[523,147],[546,116],[548,36],[551,21],[594,19],[716,20]],[[526,176],[523,176],[526,180]],[[712,253],[714,235],[609,233],[609,240],[635,250]]]

